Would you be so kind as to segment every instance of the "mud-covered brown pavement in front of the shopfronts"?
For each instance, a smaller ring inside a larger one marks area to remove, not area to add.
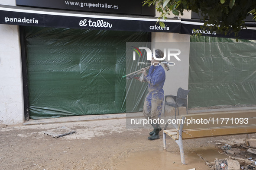
[[[76,133],[59,138],[52,129]],[[220,145],[244,143],[246,135],[184,141],[186,165],[178,145],[167,136],[167,152],[160,139],[149,141],[151,129],[126,129],[125,119],[95,120],[29,126],[0,127],[0,170],[196,170],[210,169],[205,161],[226,158]],[[251,135],[255,139],[255,135]],[[219,153],[220,151],[220,153]],[[236,155],[230,155],[236,156]],[[238,157],[254,157],[243,150]]]

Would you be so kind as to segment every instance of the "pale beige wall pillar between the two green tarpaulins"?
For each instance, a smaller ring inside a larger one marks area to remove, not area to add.
[[[174,62],[175,65],[169,66],[170,70],[165,71],[166,79],[163,88],[165,95],[176,95],[179,87],[188,89],[189,41],[190,35],[152,33],[152,42],[156,42],[156,49],[177,48],[181,50],[181,54],[178,56],[181,61],[173,57],[169,62]]]

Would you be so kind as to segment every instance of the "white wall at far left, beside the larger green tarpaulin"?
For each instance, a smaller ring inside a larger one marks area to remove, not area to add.
[[[0,4],[15,6],[16,1]],[[0,24],[0,37],[0,125],[18,125],[24,122],[18,26]]]

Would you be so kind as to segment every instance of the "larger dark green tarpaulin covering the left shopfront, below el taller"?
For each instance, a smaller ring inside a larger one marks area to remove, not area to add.
[[[149,33],[25,27],[25,34],[30,118],[126,112],[126,42],[147,42]]]

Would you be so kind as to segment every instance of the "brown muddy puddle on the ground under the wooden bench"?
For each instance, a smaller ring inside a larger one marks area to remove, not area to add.
[[[227,156],[220,154],[217,148],[197,148],[196,153],[209,162],[214,162],[215,157],[222,159]],[[204,161],[194,152],[185,153],[186,165],[181,165],[179,152],[163,151],[162,148],[141,152],[133,152],[123,159],[115,160],[115,169],[117,170],[188,170],[196,168],[196,170],[209,170]]]

